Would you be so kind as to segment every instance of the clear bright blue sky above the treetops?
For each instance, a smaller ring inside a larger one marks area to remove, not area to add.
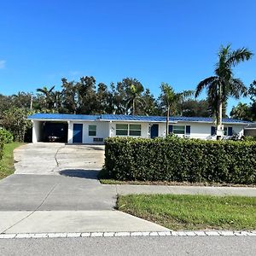
[[[255,11],[254,0],[2,0],[0,94],[58,90],[61,78],[86,75],[136,78],[154,96],[162,82],[195,90],[212,76],[220,45],[256,53]],[[256,55],[234,74],[248,86],[255,67]]]

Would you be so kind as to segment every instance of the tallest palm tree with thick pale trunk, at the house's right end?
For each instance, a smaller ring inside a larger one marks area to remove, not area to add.
[[[239,99],[240,96],[247,95],[247,87],[241,82],[241,79],[233,77],[232,67],[236,67],[242,61],[248,61],[252,56],[253,53],[247,48],[231,50],[230,44],[226,47],[221,46],[218,52],[215,76],[197,84],[195,97],[199,96],[204,88],[207,88],[208,100],[216,114],[217,131],[223,131],[223,104],[227,102],[229,96]]]

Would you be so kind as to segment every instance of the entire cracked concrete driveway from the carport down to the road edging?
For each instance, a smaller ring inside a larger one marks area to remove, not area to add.
[[[115,211],[115,186],[97,179],[103,146],[26,144],[0,181],[0,234],[167,230]]]

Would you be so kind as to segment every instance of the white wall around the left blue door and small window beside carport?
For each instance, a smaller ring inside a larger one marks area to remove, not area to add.
[[[106,138],[109,135],[108,131],[108,122],[95,122],[95,121],[69,121],[68,122],[68,133],[67,133],[67,142],[73,143],[73,124],[82,124],[83,125],[83,142],[86,144],[100,144],[104,142],[94,142],[93,139],[96,138]],[[96,136],[89,136],[89,125],[96,125]]]

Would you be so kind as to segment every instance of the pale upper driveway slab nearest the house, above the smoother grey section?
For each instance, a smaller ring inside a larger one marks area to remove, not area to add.
[[[101,170],[104,146],[31,143],[15,149],[15,174],[59,174],[65,169]]]

